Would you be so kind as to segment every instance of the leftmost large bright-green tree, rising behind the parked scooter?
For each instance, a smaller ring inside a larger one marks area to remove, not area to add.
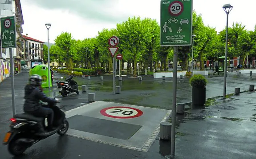
[[[54,40],[56,45],[62,50],[62,56],[67,64],[69,70],[73,70],[73,60],[77,59],[77,53],[75,49],[76,40],[73,39],[71,33],[62,32]]]

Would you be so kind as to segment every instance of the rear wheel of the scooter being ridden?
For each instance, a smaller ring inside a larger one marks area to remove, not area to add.
[[[26,151],[27,147],[24,147],[24,145],[20,145],[17,142],[18,138],[16,138],[15,140],[12,140],[9,144],[8,144],[8,151],[10,152],[10,154],[12,155],[22,155],[24,151]]]

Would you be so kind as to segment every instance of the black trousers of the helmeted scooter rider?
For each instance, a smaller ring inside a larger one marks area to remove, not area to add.
[[[33,112],[29,112],[29,113],[32,114],[33,116],[37,116],[37,117],[47,116],[48,128],[52,128],[54,112],[53,112],[53,109],[50,109],[47,107],[48,107],[48,105],[44,105],[44,107],[40,107],[39,109],[37,109]]]

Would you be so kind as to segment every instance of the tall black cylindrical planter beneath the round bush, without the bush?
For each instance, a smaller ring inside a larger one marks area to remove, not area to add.
[[[206,102],[206,89],[205,88],[192,88],[192,104],[204,105]]]

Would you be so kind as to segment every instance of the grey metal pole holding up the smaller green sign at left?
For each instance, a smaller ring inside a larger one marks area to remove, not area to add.
[[[15,106],[15,92],[14,92],[14,62],[12,55],[12,48],[10,50],[10,62],[11,62],[11,87],[12,87],[12,115],[16,114],[16,106]]]

